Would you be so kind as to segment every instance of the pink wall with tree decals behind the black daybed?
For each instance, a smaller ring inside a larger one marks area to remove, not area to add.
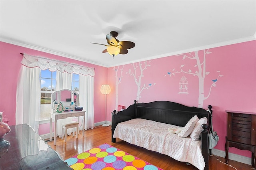
[[[220,141],[215,147],[219,150],[225,150],[225,136],[227,134],[226,110],[256,112],[256,41],[237,43],[209,49],[204,59],[204,51],[198,52],[200,63],[205,61],[206,76],[204,81],[199,82],[196,75],[199,72],[196,59],[192,59],[195,52],[184,55],[169,56],[147,61],[149,64],[143,71],[141,87],[148,87],[140,93],[139,102],[148,103],[150,101],[174,101],[187,106],[199,107],[202,104],[204,109],[208,105],[213,106],[213,125],[214,130],[218,132]],[[211,52],[211,53],[210,53]],[[142,68],[145,62],[140,62]],[[139,79],[139,63],[135,63],[136,79]],[[122,68],[122,77],[121,70]],[[175,73],[183,70],[184,73]],[[116,70],[118,70],[116,72]],[[112,88],[111,94],[108,95],[108,107],[112,110],[116,103],[116,79],[121,79],[118,84],[118,103],[128,107],[136,99],[137,85],[134,77],[132,64],[120,65],[118,67],[108,68],[108,83]],[[117,74],[116,74],[117,73]],[[173,75],[173,73],[175,73]],[[116,77],[116,75],[118,75]],[[171,76],[170,76],[171,75]],[[179,94],[180,80],[182,76],[187,78],[188,94]],[[217,79],[217,81],[216,81]],[[155,83],[155,84],[154,84]],[[203,86],[200,88],[200,84]],[[212,88],[210,88],[212,86]],[[204,90],[201,100],[200,90]],[[211,90],[210,90],[211,89]],[[141,89],[140,89],[141,90]],[[210,92],[209,97],[207,98]],[[117,108],[115,108],[117,109]],[[110,120],[111,115],[108,115]],[[243,156],[251,156],[249,151],[241,151],[236,148],[230,148],[230,152]]]

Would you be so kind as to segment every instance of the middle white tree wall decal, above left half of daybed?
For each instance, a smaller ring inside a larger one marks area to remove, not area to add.
[[[142,83],[142,77],[144,77],[143,75],[143,71],[145,69],[147,69],[147,67],[150,67],[150,63],[151,61],[144,61],[144,67],[142,66],[142,63],[138,62],[138,63],[132,63],[134,72],[131,73],[131,69],[129,69],[128,72],[126,72],[126,74],[130,74],[134,77],[134,81],[137,85],[137,96],[136,96],[136,101],[139,101],[140,99],[140,93],[144,90],[144,89],[149,89],[149,87],[152,86],[152,83],[148,83],[148,85],[146,85],[146,83],[144,83],[143,87],[141,87],[141,83]],[[137,68],[139,68],[139,70],[137,70]],[[140,72],[139,72],[140,71]],[[137,75],[138,74],[138,75]],[[153,85],[155,85],[156,83],[153,83]]]

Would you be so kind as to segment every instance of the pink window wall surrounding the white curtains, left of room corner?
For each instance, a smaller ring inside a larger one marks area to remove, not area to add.
[[[95,122],[105,121],[105,97],[100,93],[100,87],[102,84],[106,84],[107,82],[106,67],[0,42],[0,110],[4,111],[4,117],[9,120],[9,125],[15,125],[16,86],[18,81],[18,73],[21,67],[20,61],[22,60],[22,55],[20,55],[20,53],[27,53],[29,55],[42,56],[69,63],[76,63],[87,67],[94,67]],[[50,128],[48,124],[40,126],[45,126],[45,128],[40,128],[40,134],[49,133]]]

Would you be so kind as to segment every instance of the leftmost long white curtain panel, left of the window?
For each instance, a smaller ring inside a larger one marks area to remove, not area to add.
[[[39,67],[21,66],[16,90],[16,125],[27,123],[38,132],[40,116]]]

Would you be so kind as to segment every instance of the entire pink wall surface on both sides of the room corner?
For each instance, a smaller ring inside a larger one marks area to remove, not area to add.
[[[256,41],[237,43],[209,49],[204,60],[203,50],[198,52],[199,59],[206,62],[206,77],[203,81],[203,88],[200,88],[198,76],[198,66],[195,59],[189,59],[183,56],[168,56],[159,59],[147,61],[149,64],[143,71],[141,87],[148,87],[140,93],[139,102],[150,102],[158,100],[174,101],[187,106],[198,107],[202,104],[204,109],[208,105],[213,106],[214,130],[218,132],[220,141],[215,147],[224,151],[226,136],[226,112],[225,110],[256,112]],[[15,125],[16,110],[16,85],[18,72],[20,70],[20,61],[22,53],[30,55],[44,56],[52,59],[59,59],[70,63],[76,63],[88,67],[94,67],[95,87],[94,87],[94,113],[95,122],[105,120],[105,97],[100,93],[102,84],[108,83],[112,89],[107,95],[107,120],[111,121],[111,112],[116,105],[128,107],[136,100],[137,85],[134,77],[132,64],[120,65],[118,67],[105,68],[92,65],[82,61],[60,57],[41,51],[20,47],[4,42],[0,42],[0,110],[4,111],[4,116],[10,121],[9,125]],[[192,57],[195,53],[186,53]],[[136,72],[140,74],[139,63]],[[142,68],[145,63],[140,62]],[[181,67],[182,66],[182,67]],[[122,76],[121,76],[121,68]],[[186,73],[173,73],[182,68]],[[117,71],[115,71],[117,70]],[[194,75],[193,75],[194,74]],[[116,76],[117,75],[117,76]],[[171,76],[170,76],[171,75]],[[180,79],[185,76],[188,81],[188,94],[179,94]],[[218,77],[218,75],[221,75]],[[136,75],[138,79],[139,75]],[[217,81],[215,81],[218,78]],[[118,80],[121,80],[119,83]],[[214,83],[215,81],[215,83]],[[118,84],[118,86],[117,86]],[[210,87],[211,91],[210,91]],[[116,89],[118,87],[118,102],[116,103]],[[199,89],[204,90],[204,97],[210,95],[207,99],[200,101]],[[43,131],[40,134],[49,132],[49,125],[41,125]],[[243,156],[251,156],[249,151],[241,151],[236,148],[230,148],[230,152]]]

